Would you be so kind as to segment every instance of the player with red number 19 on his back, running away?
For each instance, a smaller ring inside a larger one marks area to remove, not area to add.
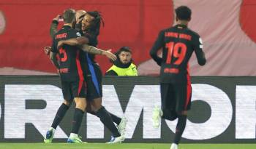
[[[191,9],[181,6],[175,9],[177,25],[159,32],[157,41],[150,51],[160,70],[160,91],[162,109],[153,110],[153,125],[159,126],[162,118],[173,121],[178,117],[176,133],[170,149],[177,149],[187,121],[187,110],[191,102],[189,58],[195,52],[199,65],[206,64],[203,43],[200,36],[187,26],[191,20]],[[162,48],[162,58],[157,51]]]

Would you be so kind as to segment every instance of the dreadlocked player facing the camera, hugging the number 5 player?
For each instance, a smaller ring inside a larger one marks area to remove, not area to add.
[[[86,15],[83,17],[82,21],[82,31],[83,36],[87,39],[86,44],[96,47],[97,46],[97,36],[99,36],[99,28],[102,21],[102,16],[99,12],[86,12]],[[78,39],[69,39],[61,41],[61,44],[76,45],[78,44]],[[84,46],[81,47],[85,49]],[[100,55],[100,52],[92,52],[92,49],[89,49],[89,52],[94,55]],[[118,118],[117,116],[108,113],[108,111],[102,106],[102,72],[99,68],[99,65],[94,61],[94,55],[89,55],[89,53],[84,53],[84,56],[81,57],[86,67],[86,81],[87,81],[87,100],[89,102],[86,109],[91,111],[90,113],[98,116],[100,121],[112,132],[113,136],[109,143],[122,142],[124,140],[124,131],[127,124],[126,118]],[[118,129],[116,128],[113,121],[118,124]],[[119,132],[118,132],[119,130]]]

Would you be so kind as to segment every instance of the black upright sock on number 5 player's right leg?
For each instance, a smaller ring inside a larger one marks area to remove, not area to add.
[[[83,120],[83,110],[80,110],[79,108],[75,108],[74,118],[72,121],[72,133],[78,134],[78,130],[81,126],[82,120]]]

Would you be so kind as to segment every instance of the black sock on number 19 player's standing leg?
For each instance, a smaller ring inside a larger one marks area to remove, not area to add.
[[[178,143],[181,140],[181,135],[184,132],[186,122],[187,122],[187,116],[184,116],[184,115],[178,116],[178,123],[176,126],[176,133],[174,136],[174,143],[176,143],[176,145],[178,145]]]

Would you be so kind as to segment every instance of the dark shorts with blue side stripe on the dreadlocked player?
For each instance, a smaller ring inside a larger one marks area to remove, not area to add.
[[[102,97],[102,71],[99,65],[95,63],[89,64],[86,72],[87,96],[86,100],[94,100]]]

